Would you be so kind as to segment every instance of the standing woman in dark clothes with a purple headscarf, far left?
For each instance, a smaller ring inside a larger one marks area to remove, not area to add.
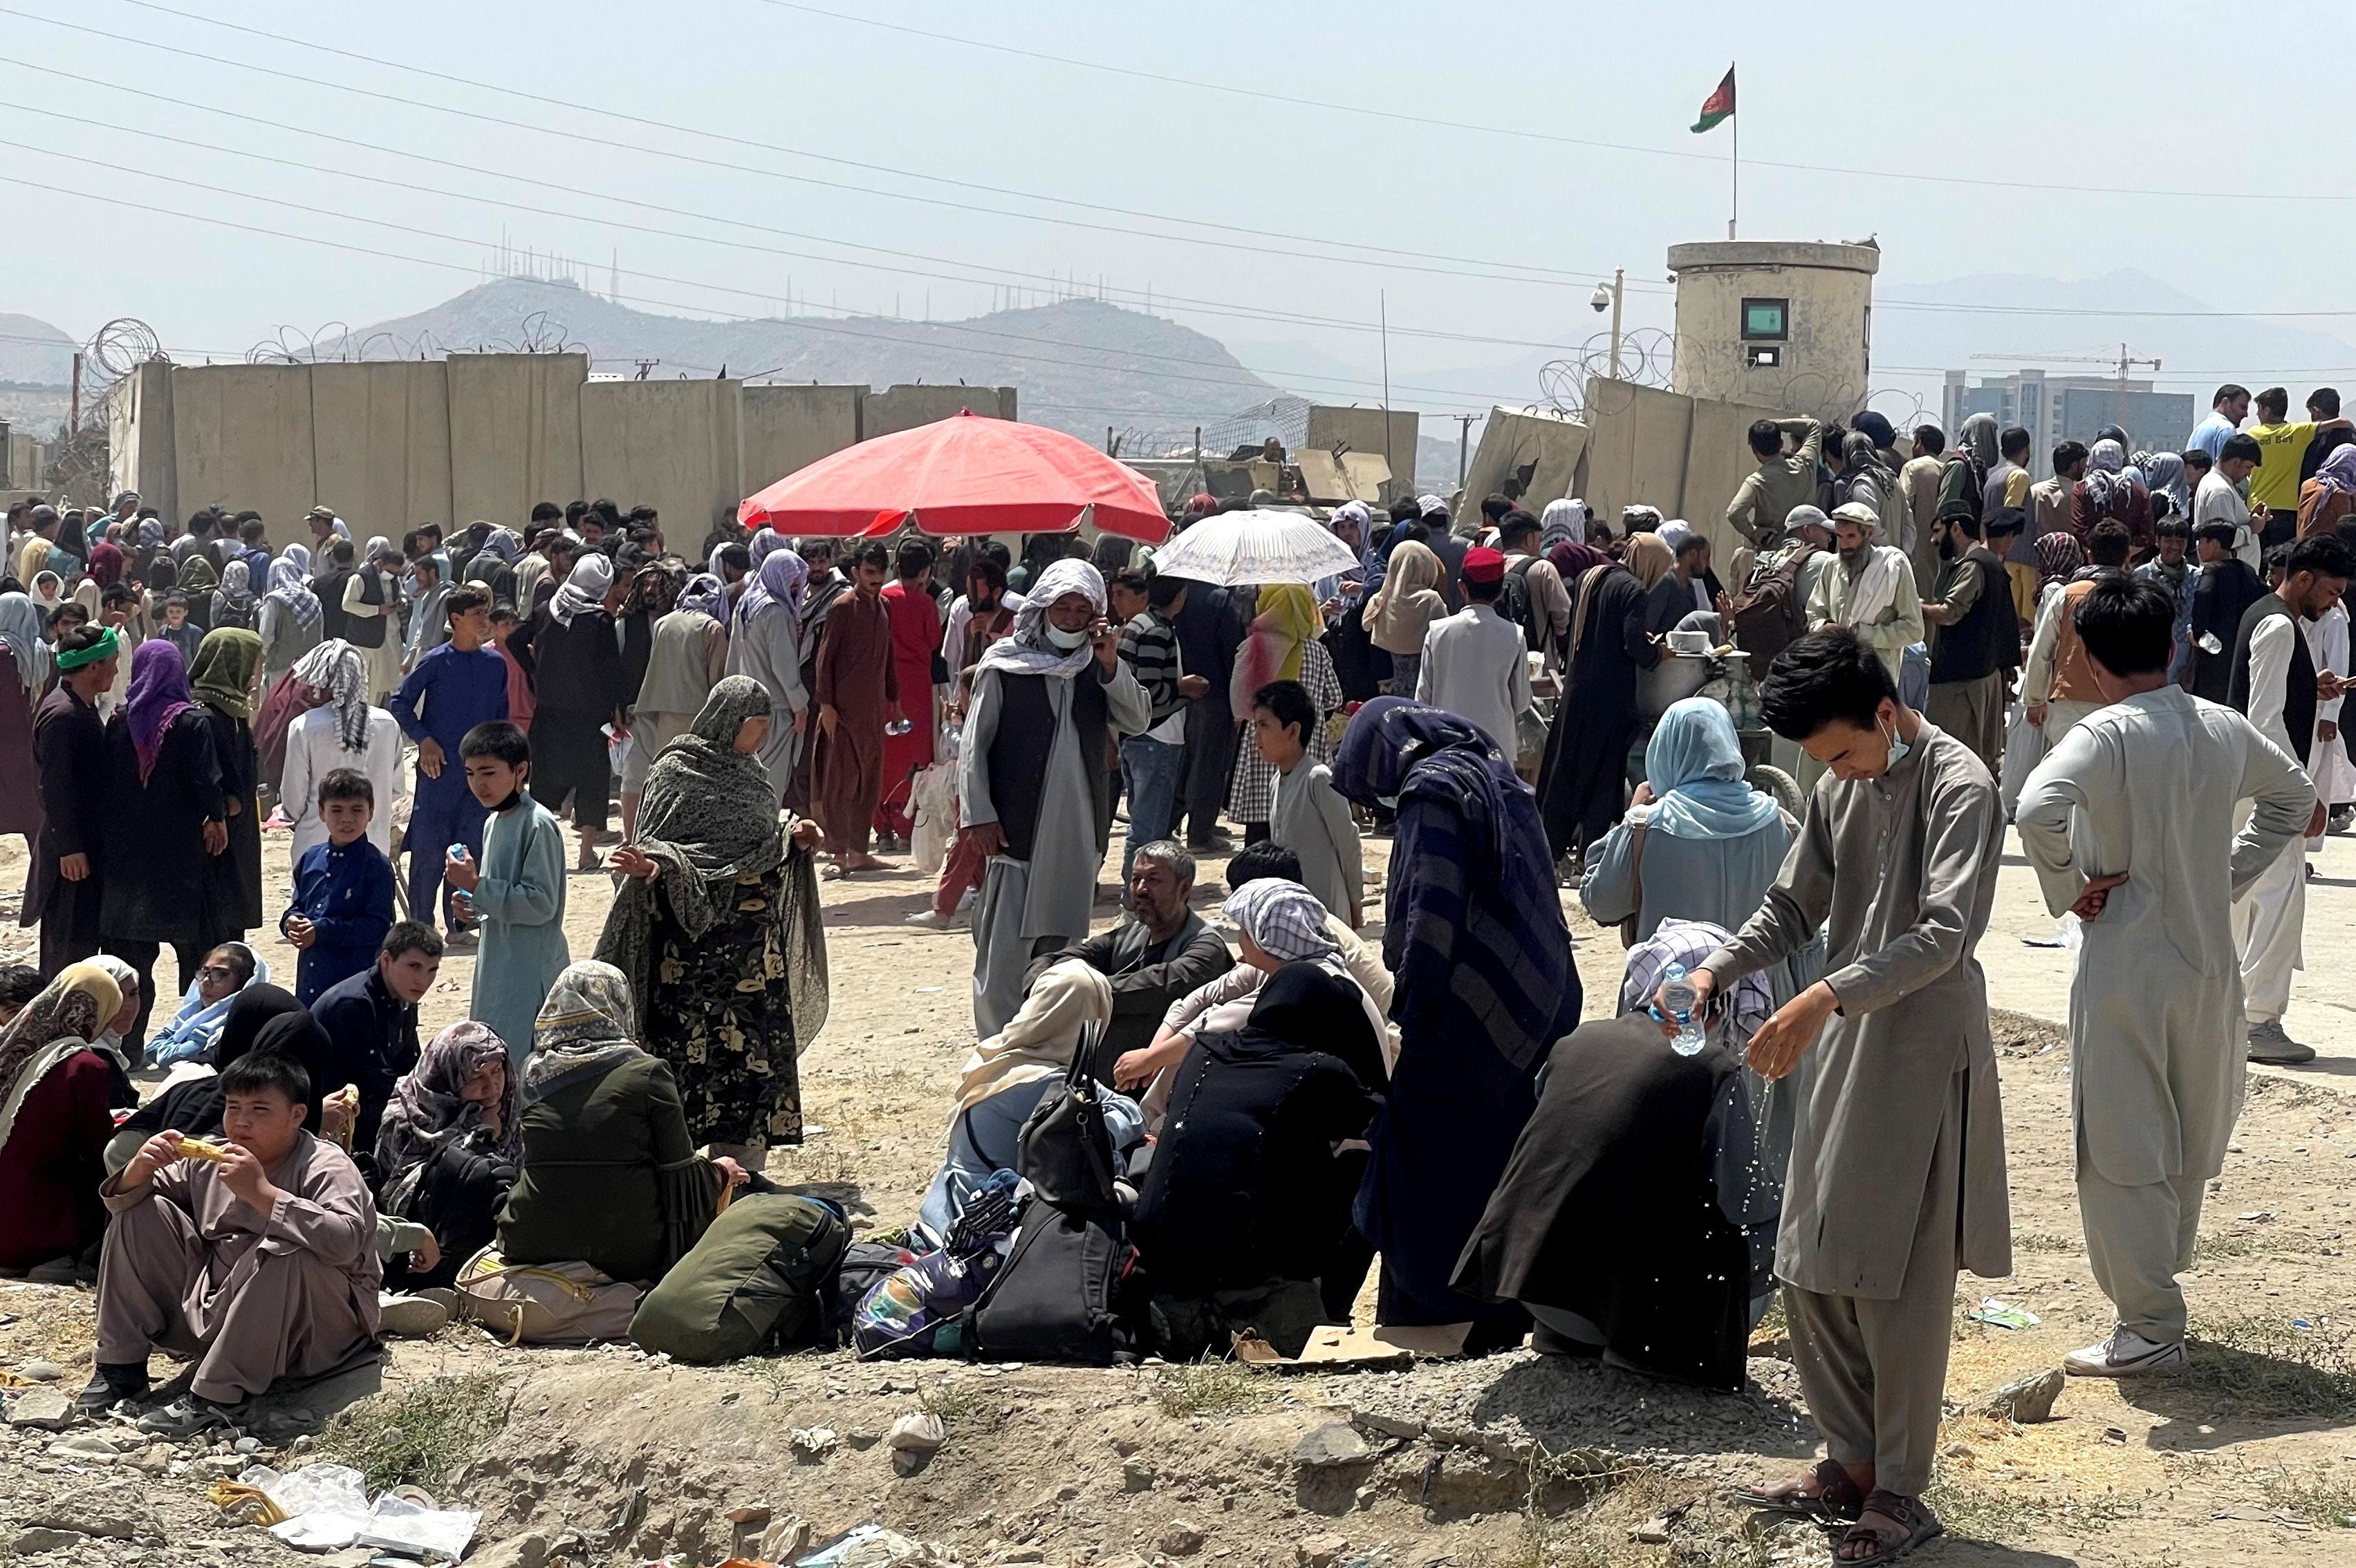
[[[163,638],[132,655],[130,695],[106,720],[106,768],[99,937],[130,961],[141,998],[155,996],[155,951],[170,944],[186,991],[221,939],[205,921],[205,885],[229,848],[229,798],[188,671]],[[139,1022],[134,1036],[144,1036],[146,1003]]]

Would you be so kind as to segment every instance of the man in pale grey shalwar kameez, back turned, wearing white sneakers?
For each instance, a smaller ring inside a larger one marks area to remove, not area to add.
[[[2118,1328],[2064,1361],[2080,1377],[2184,1368],[2177,1271],[2241,1114],[2231,902],[2316,803],[2257,725],[2168,683],[2172,622],[2156,584],[2094,584],[2076,624],[2111,706],[2045,756],[2014,812],[2047,909],[2085,921],[2069,1001],[2078,1212]],[[2255,805],[2241,833],[2236,800]]]

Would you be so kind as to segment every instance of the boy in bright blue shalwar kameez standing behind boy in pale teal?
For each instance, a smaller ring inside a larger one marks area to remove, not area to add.
[[[490,643],[490,589],[478,582],[443,598],[450,640],[419,655],[386,711],[417,742],[417,793],[410,800],[410,918],[434,923],[450,845],[483,855],[483,805],[466,791],[459,742],[476,725],[507,718],[507,659]],[[455,888],[452,888],[455,892]],[[466,949],[474,925],[448,911],[450,939]]]

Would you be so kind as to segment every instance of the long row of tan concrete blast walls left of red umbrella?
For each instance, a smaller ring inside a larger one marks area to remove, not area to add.
[[[108,391],[111,487],[186,518],[259,511],[271,542],[335,506],[358,539],[419,523],[521,527],[537,501],[653,506],[674,542],[829,452],[1011,386],[589,381],[577,353],[457,353],[323,365],[139,365]]]

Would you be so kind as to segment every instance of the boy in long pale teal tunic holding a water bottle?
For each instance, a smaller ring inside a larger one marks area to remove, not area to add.
[[[565,946],[565,841],[549,808],[525,793],[532,742],[523,730],[504,720],[476,725],[459,744],[459,763],[466,789],[490,812],[481,864],[469,857],[443,866],[459,906],[483,930],[466,1015],[499,1036],[509,1067],[521,1071],[523,1057],[532,1055],[540,1003],[573,961]]]

